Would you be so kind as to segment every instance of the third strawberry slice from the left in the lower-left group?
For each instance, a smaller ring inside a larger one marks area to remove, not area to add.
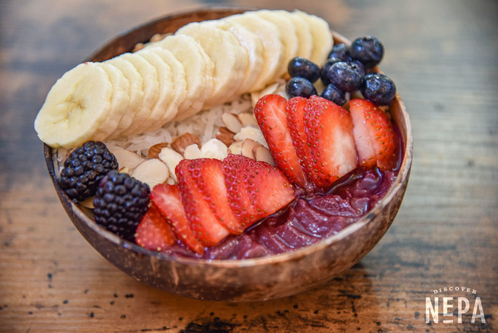
[[[218,244],[229,232],[218,221],[214,211],[204,200],[204,195],[198,188],[189,170],[195,160],[182,160],[175,168],[178,188],[183,204],[183,209],[190,223],[190,229],[195,237],[205,246]],[[195,171],[195,167],[191,168]]]

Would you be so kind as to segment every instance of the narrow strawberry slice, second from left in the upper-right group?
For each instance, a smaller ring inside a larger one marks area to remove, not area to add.
[[[299,164],[304,172],[309,166],[309,147],[307,145],[306,133],[304,131],[304,107],[308,103],[308,99],[304,97],[293,97],[287,102],[285,113],[287,115],[287,126],[292,137],[292,144],[296,150],[296,155],[299,158]],[[309,176],[305,174],[309,179]]]

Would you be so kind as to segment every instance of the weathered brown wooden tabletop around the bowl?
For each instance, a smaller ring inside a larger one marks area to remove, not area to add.
[[[116,34],[212,2],[1,1],[0,331],[497,332],[497,1],[233,2],[296,6],[351,39],[378,36],[381,68],[408,108],[415,150],[398,216],[329,283],[268,302],[185,299],[133,280],[80,236],[33,131],[48,90]],[[453,291],[434,295],[444,287]],[[439,323],[427,324],[426,298],[435,296]],[[444,296],[454,297],[455,316],[444,318],[453,324],[442,323]],[[470,302],[462,324],[459,296]],[[471,323],[477,297],[485,323]]]

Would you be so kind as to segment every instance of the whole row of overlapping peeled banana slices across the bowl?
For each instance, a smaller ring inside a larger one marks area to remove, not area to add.
[[[155,131],[263,89],[295,56],[322,65],[332,45],[328,23],[298,10],[189,23],[137,52],[66,72],[34,127],[54,148]]]

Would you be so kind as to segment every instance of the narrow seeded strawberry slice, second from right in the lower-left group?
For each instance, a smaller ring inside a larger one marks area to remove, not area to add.
[[[248,164],[254,160],[243,155],[229,154],[223,160],[223,174],[227,186],[227,197],[232,211],[246,229],[256,220],[257,210],[249,199],[247,182],[249,179]]]

